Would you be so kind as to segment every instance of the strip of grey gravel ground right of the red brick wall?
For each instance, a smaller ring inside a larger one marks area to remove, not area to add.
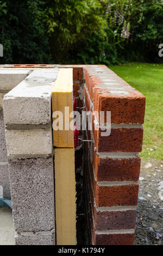
[[[163,245],[163,161],[142,159],[135,245]]]

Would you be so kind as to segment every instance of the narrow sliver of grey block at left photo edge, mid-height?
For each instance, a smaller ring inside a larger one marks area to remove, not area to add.
[[[3,111],[0,111],[0,162],[7,162]]]

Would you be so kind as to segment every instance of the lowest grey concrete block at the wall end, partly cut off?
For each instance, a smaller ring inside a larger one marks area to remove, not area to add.
[[[15,245],[55,245],[55,234],[40,232],[39,234],[15,234]]]

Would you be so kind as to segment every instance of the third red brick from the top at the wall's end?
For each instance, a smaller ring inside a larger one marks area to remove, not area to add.
[[[101,159],[94,153],[94,169],[97,181],[139,180],[140,158]]]

